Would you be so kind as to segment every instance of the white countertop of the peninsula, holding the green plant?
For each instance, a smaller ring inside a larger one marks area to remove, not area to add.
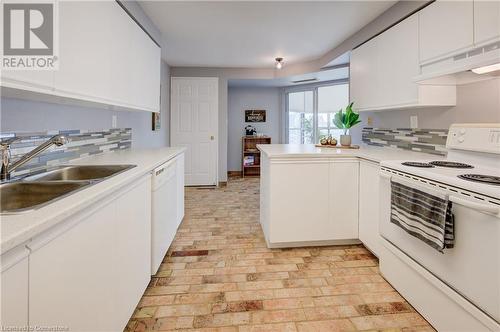
[[[359,149],[319,148],[313,144],[261,144],[257,148],[268,158],[346,158],[357,157],[374,162],[385,160],[443,159],[444,156],[390,147],[361,145]]]

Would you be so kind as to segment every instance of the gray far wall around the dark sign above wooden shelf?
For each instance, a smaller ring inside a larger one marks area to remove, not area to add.
[[[241,137],[245,134],[245,110],[266,110],[266,122],[252,123],[258,133],[280,143],[281,89],[229,88],[228,89],[228,171],[241,171]]]

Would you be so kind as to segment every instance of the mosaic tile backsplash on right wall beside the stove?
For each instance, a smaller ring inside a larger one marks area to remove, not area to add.
[[[363,142],[369,145],[446,155],[448,129],[386,129],[365,127]]]

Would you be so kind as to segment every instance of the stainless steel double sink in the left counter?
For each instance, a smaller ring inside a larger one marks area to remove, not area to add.
[[[68,165],[0,184],[0,213],[40,208],[136,165]]]

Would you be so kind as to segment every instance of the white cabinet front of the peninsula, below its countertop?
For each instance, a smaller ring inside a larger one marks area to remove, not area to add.
[[[270,247],[357,242],[357,159],[261,160],[261,223]]]

